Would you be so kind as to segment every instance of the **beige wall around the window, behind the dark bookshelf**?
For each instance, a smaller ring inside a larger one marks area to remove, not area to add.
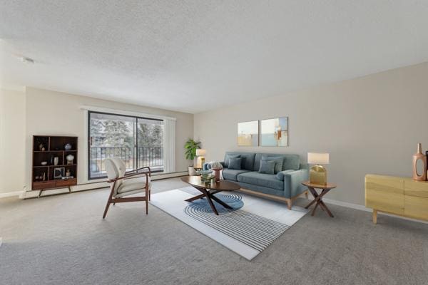
[[[127,110],[154,115],[165,115],[177,119],[175,135],[175,171],[187,171],[188,161],[184,158],[184,142],[193,138],[193,115],[108,100],[59,93],[50,90],[26,88],[26,183],[31,182],[31,144],[33,135],[78,136],[78,183],[86,182],[86,165],[83,150],[85,145],[85,110],[81,105]]]

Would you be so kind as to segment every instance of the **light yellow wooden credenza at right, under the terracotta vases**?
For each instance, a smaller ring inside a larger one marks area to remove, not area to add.
[[[377,212],[428,220],[428,182],[409,177],[366,175],[365,205],[373,209],[374,224]]]

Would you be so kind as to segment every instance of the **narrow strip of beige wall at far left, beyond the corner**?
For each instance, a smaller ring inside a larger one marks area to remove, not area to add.
[[[0,89],[0,193],[24,189],[25,93]]]

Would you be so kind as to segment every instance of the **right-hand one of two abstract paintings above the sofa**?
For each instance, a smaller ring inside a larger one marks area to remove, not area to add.
[[[263,147],[287,147],[288,117],[261,120],[260,145]]]

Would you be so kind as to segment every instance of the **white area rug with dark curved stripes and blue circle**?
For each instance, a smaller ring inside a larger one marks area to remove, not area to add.
[[[215,196],[225,202],[242,200],[243,207],[229,210],[215,203],[217,216],[205,198],[185,202],[195,195],[200,192],[191,186],[184,187],[153,194],[150,203],[248,260],[263,252],[308,212],[298,206],[289,210],[285,203],[240,192],[221,192]]]

